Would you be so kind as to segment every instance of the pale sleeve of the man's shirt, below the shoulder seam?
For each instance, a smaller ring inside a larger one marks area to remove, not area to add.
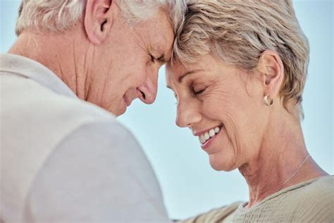
[[[68,135],[37,174],[27,222],[168,222],[154,172],[120,123]]]

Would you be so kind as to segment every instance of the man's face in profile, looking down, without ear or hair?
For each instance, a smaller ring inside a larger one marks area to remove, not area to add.
[[[144,22],[128,25],[122,16],[113,20],[99,54],[87,100],[123,114],[137,97],[146,104],[156,98],[159,68],[170,59],[173,28],[164,11]]]

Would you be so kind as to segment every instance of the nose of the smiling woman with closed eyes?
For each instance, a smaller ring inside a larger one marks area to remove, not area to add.
[[[192,124],[202,121],[202,115],[196,104],[178,102],[178,111],[175,123],[179,127],[191,127]]]

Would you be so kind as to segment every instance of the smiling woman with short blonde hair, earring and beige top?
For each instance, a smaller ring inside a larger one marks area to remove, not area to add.
[[[193,1],[166,68],[176,123],[218,171],[239,169],[249,201],[186,222],[333,222],[333,176],[307,152],[309,46],[290,1]]]

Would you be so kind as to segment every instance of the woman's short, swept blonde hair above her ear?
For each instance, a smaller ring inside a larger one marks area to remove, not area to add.
[[[192,1],[178,29],[173,60],[194,63],[214,54],[225,63],[253,71],[266,49],[283,61],[283,105],[294,99],[302,111],[309,43],[289,0]]]

